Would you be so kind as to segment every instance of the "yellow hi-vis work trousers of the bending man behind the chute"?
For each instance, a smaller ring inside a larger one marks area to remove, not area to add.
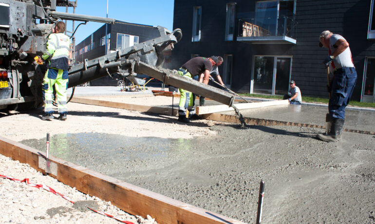
[[[182,75],[184,77],[190,78],[191,75],[187,70],[180,69],[178,75]],[[178,105],[178,115],[179,116],[186,116],[186,110],[189,111],[189,116],[195,114],[195,99],[193,98],[193,94],[187,90],[179,89],[181,97],[180,103]]]

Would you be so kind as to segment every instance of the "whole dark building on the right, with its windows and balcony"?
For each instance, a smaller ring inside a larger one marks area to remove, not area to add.
[[[318,43],[330,30],[350,44],[358,74],[352,99],[374,102],[373,11],[374,0],[175,0],[173,28],[183,38],[172,64],[223,56],[219,72],[235,92],[282,95],[295,80],[302,96],[328,97],[328,50]]]

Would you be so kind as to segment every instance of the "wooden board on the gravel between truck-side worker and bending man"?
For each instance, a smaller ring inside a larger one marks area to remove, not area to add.
[[[160,113],[160,114],[167,114],[167,115],[171,115],[172,113],[172,108],[169,108],[169,107],[144,106],[144,105],[136,105],[136,104],[128,104],[128,103],[111,102],[111,101],[105,101],[105,100],[97,100],[97,99],[87,99],[87,98],[80,98],[80,97],[73,97],[70,102],[126,109],[126,110],[131,110],[131,111]],[[177,112],[178,112],[178,108],[173,109],[173,115],[176,115]]]

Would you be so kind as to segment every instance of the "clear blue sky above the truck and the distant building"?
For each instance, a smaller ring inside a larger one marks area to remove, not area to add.
[[[108,0],[108,18],[151,26],[173,28],[174,0]],[[65,12],[65,7],[57,7],[57,11]],[[68,11],[73,13],[73,9]],[[106,17],[107,0],[78,0],[76,14]],[[79,21],[75,21],[77,26]],[[75,44],[78,44],[105,23],[88,22],[80,25],[75,32]],[[72,23],[67,24],[72,30]]]

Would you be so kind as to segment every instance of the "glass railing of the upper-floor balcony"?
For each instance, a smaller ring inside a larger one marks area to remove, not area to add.
[[[238,37],[290,37],[296,38],[296,20],[286,16],[244,18],[238,20]]]

